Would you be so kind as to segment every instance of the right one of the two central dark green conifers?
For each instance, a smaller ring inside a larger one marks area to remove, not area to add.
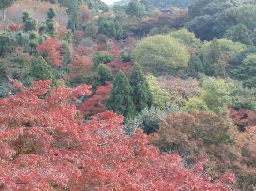
[[[153,96],[143,74],[143,68],[138,63],[133,66],[133,69],[129,75],[129,84],[133,88],[133,103],[138,112],[144,108],[151,107],[153,102]]]

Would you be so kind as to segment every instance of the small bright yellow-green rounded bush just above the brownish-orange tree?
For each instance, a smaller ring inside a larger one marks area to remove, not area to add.
[[[196,110],[209,111],[209,108],[207,107],[206,103],[198,97],[189,98],[188,102],[182,109],[188,111],[188,113],[192,113]]]

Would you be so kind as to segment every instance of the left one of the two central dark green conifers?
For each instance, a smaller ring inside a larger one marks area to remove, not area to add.
[[[119,70],[113,81],[111,95],[107,100],[108,110],[113,110],[117,114],[123,114],[126,118],[134,117],[136,108],[132,100],[133,89],[128,83],[128,79],[122,70]]]

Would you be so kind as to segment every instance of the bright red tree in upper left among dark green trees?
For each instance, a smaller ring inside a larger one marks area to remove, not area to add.
[[[62,44],[53,38],[48,38],[43,44],[38,45],[38,52],[46,55],[46,61],[55,66],[61,66],[63,60]]]

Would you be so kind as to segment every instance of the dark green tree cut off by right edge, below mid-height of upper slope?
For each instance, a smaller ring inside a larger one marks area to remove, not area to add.
[[[246,87],[256,87],[256,54],[248,54],[243,60],[242,65],[233,69],[233,78],[243,81]]]

